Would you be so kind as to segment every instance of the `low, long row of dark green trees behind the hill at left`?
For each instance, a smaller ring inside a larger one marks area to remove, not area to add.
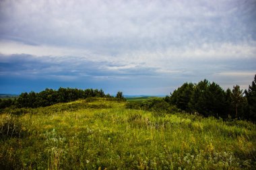
[[[46,88],[44,91],[36,93],[21,93],[17,99],[0,99],[0,108],[14,106],[17,108],[39,108],[55,103],[65,103],[75,101],[77,99],[86,99],[88,97],[108,97],[114,98],[109,94],[105,94],[102,89],[72,89],[60,87],[58,90]],[[123,93],[119,91],[116,99],[124,100]]]

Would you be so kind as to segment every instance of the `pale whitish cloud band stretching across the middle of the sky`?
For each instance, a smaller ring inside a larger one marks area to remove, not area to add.
[[[195,62],[201,60],[236,60],[251,58],[256,60],[256,42],[250,44],[202,44],[197,48],[187,46],[187,48],[168,48],[166,50],[133,50],[129,53],[122,53],[119,56],[109,56],[90,52],[81,48],[64,48],[55,46],[32,46],[17,42],[0,42],[2,54],[30,54],[34,57],[55,58],[55,60],[67,60],[73,58],[73,62],[89,60],[92,62],[109,62],[105,69],[125,70],[136,69],[137,67],[158,68],[160,70],[170,69],[170,65],[179,66],[179,62]],[[77,61],[75,61],[77,60]],[[173,66],[173,67],[174,67]],[[171,69],[171,71],[173,71]]]

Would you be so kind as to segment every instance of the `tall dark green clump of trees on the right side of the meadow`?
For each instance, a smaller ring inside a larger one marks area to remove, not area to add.
[[[189,113],[255,121],[256,75],[245,91],[239,85],[225,91],[220,85],[205,79],[199,83],[184,83],[166,96],[164,101]]]

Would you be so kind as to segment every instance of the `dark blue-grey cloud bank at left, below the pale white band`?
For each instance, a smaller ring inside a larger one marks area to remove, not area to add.
[[[44,77],[47,79],[60,78],[67,81],[82,79],[83,77],[127,77],[156,75],[155,69],[137,66],[132,69],[111,70],[114,65],[111,62],[93,62],[79,57],[52,56],[35,57],[28,54],[13,54],[11,56],[0,55],[1,75],[17,75],[19,77]],[[115,67],[123,65],[115,64]]]

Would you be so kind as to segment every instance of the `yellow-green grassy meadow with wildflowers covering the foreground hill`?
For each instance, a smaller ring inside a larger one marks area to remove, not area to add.
[[[158,117],[106,99],[9,112],[0,115],[1,169],[256,168],[250,122]]]

